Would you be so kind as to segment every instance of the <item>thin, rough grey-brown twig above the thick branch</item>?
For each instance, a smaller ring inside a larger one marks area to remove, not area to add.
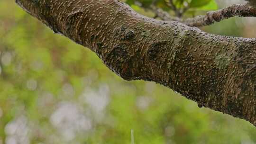
[[[195,18],[181,19],[171,17],[167,12],[158,9],[155,6],[150,7],[157,17],[168,21],[179,21],[190,27],[210,26],[215,22],[232,17],[256,17],[256,9],[252,4],[234,4],[232,6],[219,9],[217,11],[210,11],[205,16],[197,16]]]

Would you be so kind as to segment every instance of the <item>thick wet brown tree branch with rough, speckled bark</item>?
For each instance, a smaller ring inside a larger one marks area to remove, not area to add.
[[[119,0],[16,0],[125,80],[155,81],[256,126],[256,39],[158,21]]]

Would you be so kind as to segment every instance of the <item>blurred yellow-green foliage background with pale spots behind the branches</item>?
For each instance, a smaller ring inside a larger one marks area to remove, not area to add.
[[[132,144],[131,130],[135,144],[256,144],[245,120],[154,82],[122,80],[14,1],[0,0],[0,144]],[[256,18],[230,18],[202,30],[256,37],[255,26]]]

